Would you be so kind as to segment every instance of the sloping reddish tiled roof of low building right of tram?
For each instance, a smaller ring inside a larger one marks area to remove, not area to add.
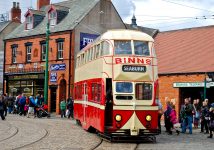
[[[214,72],[214,26],[160,32],[159,74]]]

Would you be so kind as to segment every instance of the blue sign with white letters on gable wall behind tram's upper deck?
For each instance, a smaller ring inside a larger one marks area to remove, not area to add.
[[[98,36],[96,34],[80,33],[80,50],[93,42]]]

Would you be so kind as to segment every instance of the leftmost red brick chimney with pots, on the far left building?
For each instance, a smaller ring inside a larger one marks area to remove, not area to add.
[[[13,22],[21,23],[21,9],[18,2],[13,2],[13,7],[11,8],[11,20]]]

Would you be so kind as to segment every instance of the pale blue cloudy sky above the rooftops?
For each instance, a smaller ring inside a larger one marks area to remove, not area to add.
[[[0,14],[20,2],[22,18],[37,0],[0,0]],[[51,3],[65,0],[51,0]],[[214,0],[112,0],[125,23],[135,14],[137,24],[160,31],[214,25]],[[22,19],[23,20],[23,19]]]

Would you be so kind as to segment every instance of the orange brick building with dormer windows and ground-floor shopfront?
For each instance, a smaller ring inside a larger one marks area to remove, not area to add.
[[[72,95],[75,54],[108,29],[126,28],[110,0],[75,0],[50,4],[38,0],[25,22],[5,39],[5,92],[43,94],[46,24],[50,22],[49,111]]]

